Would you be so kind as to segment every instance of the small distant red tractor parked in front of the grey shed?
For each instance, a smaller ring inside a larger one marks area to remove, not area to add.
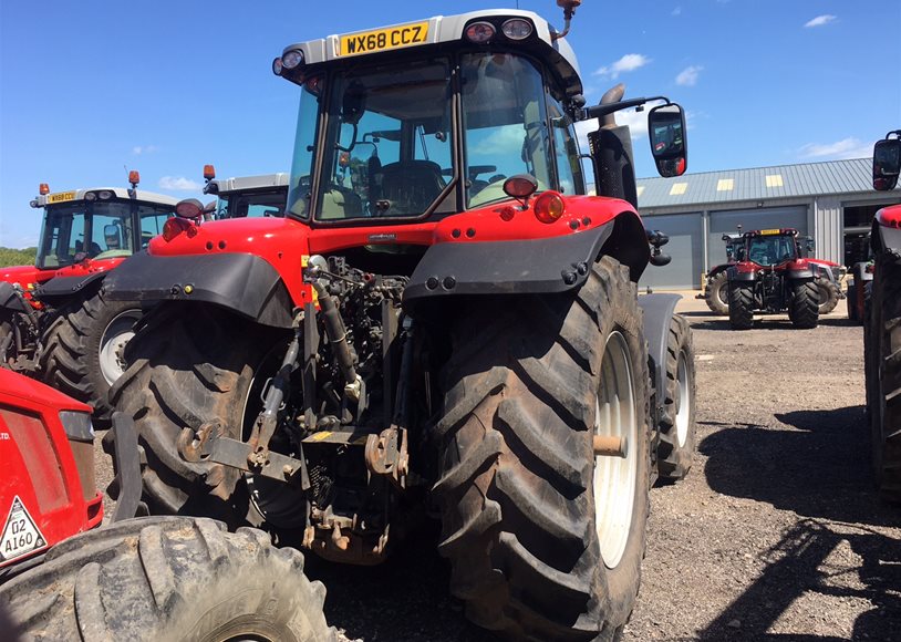
[[[729,325],[748,330],[754,312],[785,312],[795,328],[816,328],[816,268],[804,257],[796,229],[763,229],[743,236],[743,259],[727,270]]]

